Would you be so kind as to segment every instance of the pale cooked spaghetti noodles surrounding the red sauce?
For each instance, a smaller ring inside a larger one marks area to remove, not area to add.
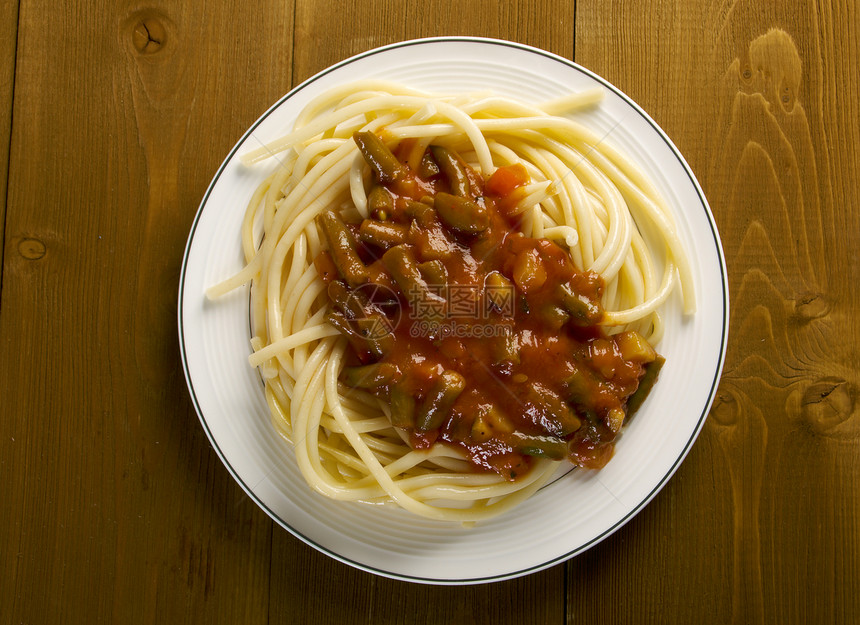
[[[444,146],[484,177],[523,164],[530,182],[515,212],[526,234],[557,241],[578,269],[602,276],[610,332],[635,329],[658,342],[661,306],[679,289],[685,312],[693,312],[691,270],[666,202],[641,169],[572,115],[601,96],[596,89],[541,105],[363,81],[317,97],[289,134],[242,156],[249,167],[265,159],[278,166],[247,207],[246,267],[208,295],[252,283],[250,361],[265,380],[275,427],[318,492],[468,523],[521,503],[559,464],[538,458],[511,481],[474,471],[449,445],[413,449],[391,425],[389,405],[339,380],[347,342],[326,321],[330,305],[313,262],[325,244],[315,220],[332,209],[368,216],[357,131],[390,144],[414,140],[419,150]]]

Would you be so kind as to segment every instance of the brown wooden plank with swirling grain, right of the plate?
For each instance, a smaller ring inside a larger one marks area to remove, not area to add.
[[[598,613],[584,584],[614,623],[857,612],[857,26],[847,1],[577,3],[577,60],[652,114],[709,197],[732,323],[676,478],[570,563],[571,621]]]

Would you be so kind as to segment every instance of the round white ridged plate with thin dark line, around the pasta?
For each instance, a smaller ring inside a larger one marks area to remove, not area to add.
[[[670,302],[660,351],[667,364],[646,405],[599,472],[570,471],[513,512],[465,529],[402,510],[328,500],[311,491],[275,434],[250,354],[248,291],[209,302],[204,290],[242,266],[239,227],[265,166],[237,155],[284,134],[314,96],[339,83],[384,78],[429,91],[492,89],[540,101],[606,88],[587,123],[640,161],[675,212],[691,254],[698,312]],[[657,494],[693,444],[714,398],[728,331],[719,235],[693,173],[663,131],[602,78],[548,52],[506,41],[408,41],[343,61],[296,87],[242,137],[219,168],[191,228],[179,291],[179,336],[194,406],[227,469],[278,524],[320,551],[380,575],[477,583],[525,575],[603,540]]]

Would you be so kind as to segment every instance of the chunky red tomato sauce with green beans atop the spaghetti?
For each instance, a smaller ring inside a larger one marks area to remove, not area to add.
[[[329,321],[350,343],[341,380],[391,405],[411,446],[460,448],[516,479],[534,458],[604,466],[662,358],[599,325],[603,280],[520,230],[529,177],[486,181],[453,151],[356,135],[370,218],[320,220]]]

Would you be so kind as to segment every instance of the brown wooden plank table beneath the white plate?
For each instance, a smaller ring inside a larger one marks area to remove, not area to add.
[[[0,0],[0,623],[860,619],[860,12],[832,2]],[[718,398],[657,498],[489,585],[359,572],[212,450],[176,331],[209,180],[333,62],[442,34],[606,77],[686,156],[732,295]]]

